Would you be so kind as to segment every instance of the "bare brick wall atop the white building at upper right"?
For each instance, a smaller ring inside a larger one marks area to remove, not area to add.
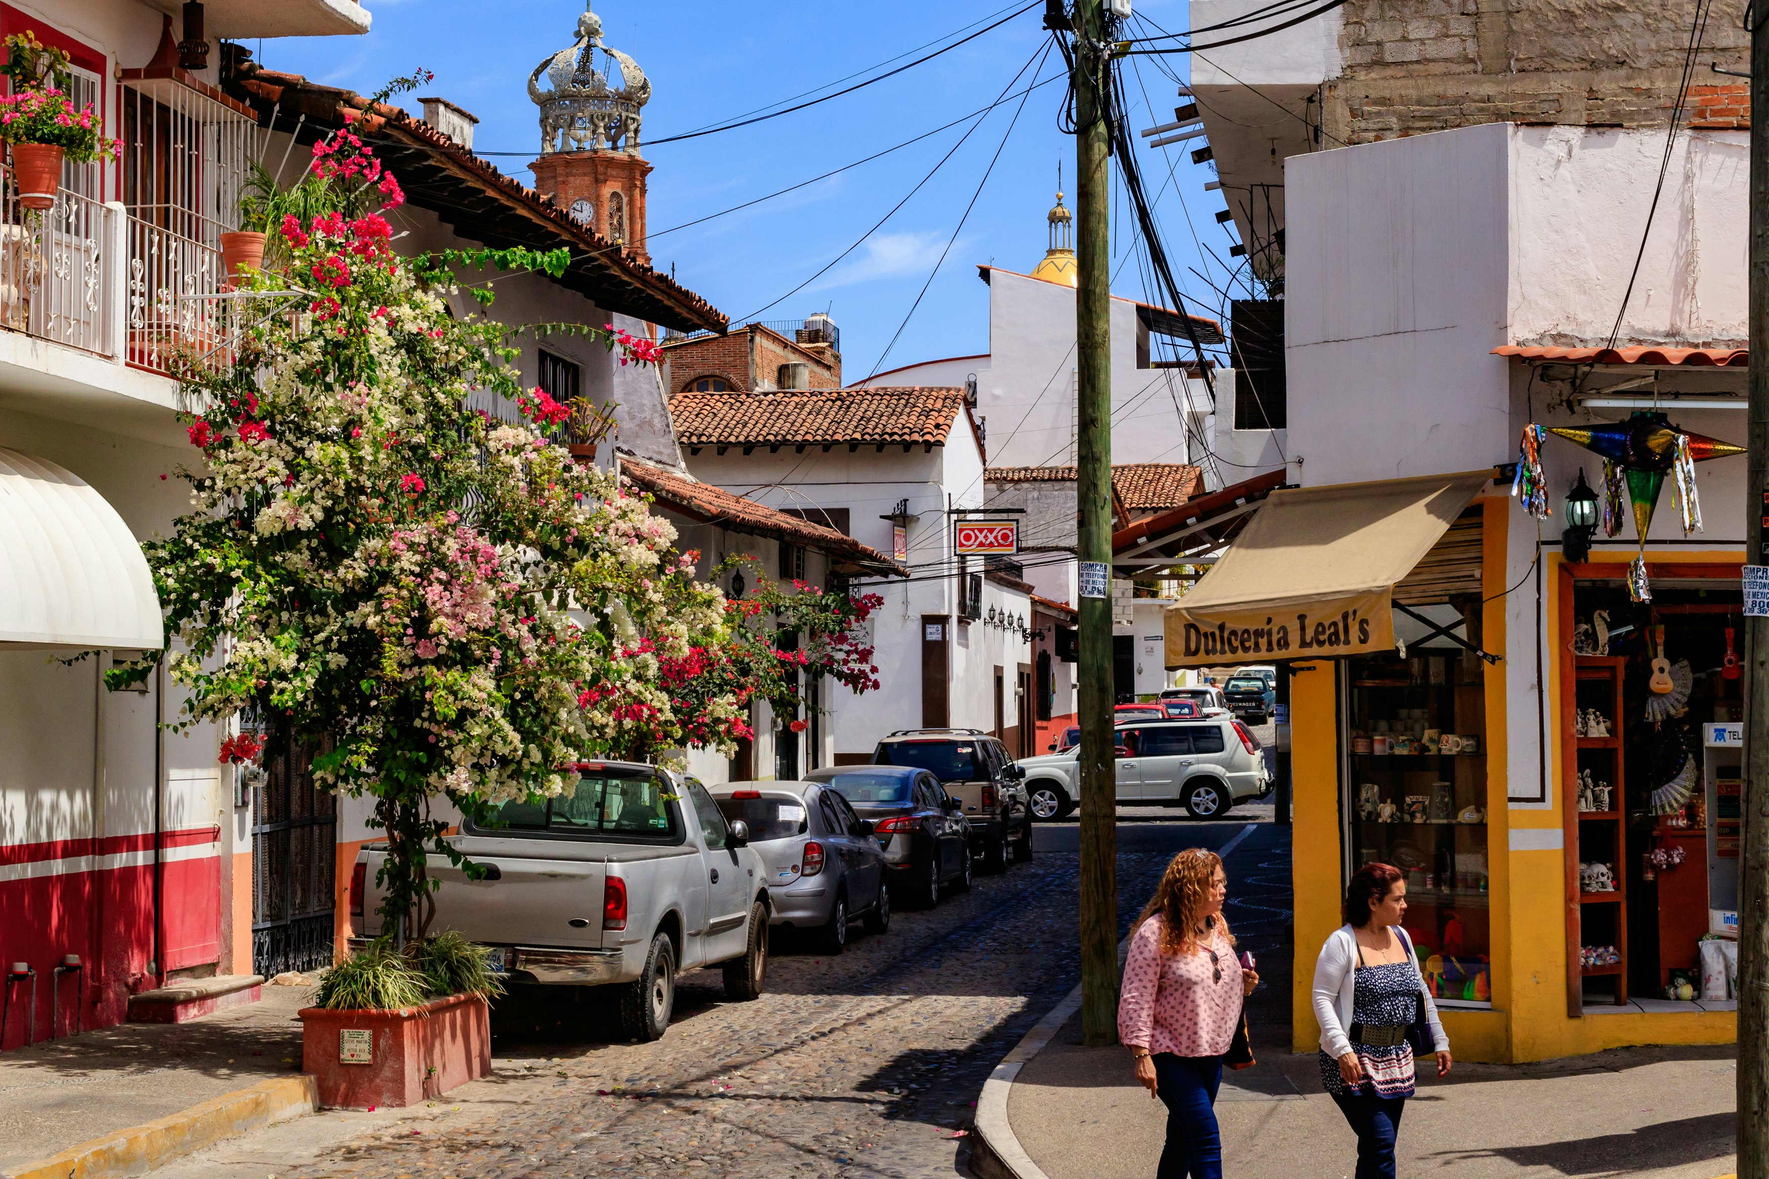
[[[1695,0],[1350,0],[1329,134],[1366,143],[1481,122],[1665,126]],[[1746,69],[1737,19],[1707,23],[1698,67]],[[1744,87],[1691,88],[1696,127],[1744,127]]]

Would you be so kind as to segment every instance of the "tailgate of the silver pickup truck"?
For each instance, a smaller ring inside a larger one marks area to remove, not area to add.
[[[432,930],[458,930],[486,946],[555,946],[596,949],[601,946],[605,857],[563,857],[575,848],[554,841],[463,838],[460,850],[488,870],[488,879],[469,880],[446,856],[430,856],[430,877],[440,880]],[[375,873],[382,852],[368,857],[364,917],[373,923],[380,889]],[[619,935],[614,935],[616,939]]]

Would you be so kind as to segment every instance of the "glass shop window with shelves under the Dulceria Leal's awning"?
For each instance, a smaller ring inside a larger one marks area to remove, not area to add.
[[[1468,652],[1346,661],[1348,870],[1406,873],[1406,933],[1444,1006],[1491,1004],[1486,670]]]

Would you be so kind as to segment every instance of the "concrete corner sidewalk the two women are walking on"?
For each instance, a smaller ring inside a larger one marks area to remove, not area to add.
[[[1256,1045],[1217,1099],[1228,1175],[1350,1177],[1357,1140],[1318,1057]],[[1435,1073],[1435,1069],[1433,1069]],[[1399,1174],[1456,1179],[1714,1179],[1734,1161],[1734,1050],[1624,1048],[1528,1066],[1458,1064],[1406,1103]],[[1008,1122],[1049,1179],[1150,1179],[1166,1107],[1123,1048],[1083,1048],[1079,1016],[1028,1061]]]

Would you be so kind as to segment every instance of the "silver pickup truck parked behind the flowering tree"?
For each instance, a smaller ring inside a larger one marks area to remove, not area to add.
[[[727,824],[693,778],[655,765],[575,769],[571,797],[506,802],[494,825],[467,822],[449,838],[485,879],[430,856],[442,882],[430,928],[490,946],[511,983],[607,986],[635,1039],[669,1027],[678,970],[724,963],[731,999],[759,997],[768,877],[743,822]],[[357,852],[350,880],[352,917],[370,937],[384,848]]]

